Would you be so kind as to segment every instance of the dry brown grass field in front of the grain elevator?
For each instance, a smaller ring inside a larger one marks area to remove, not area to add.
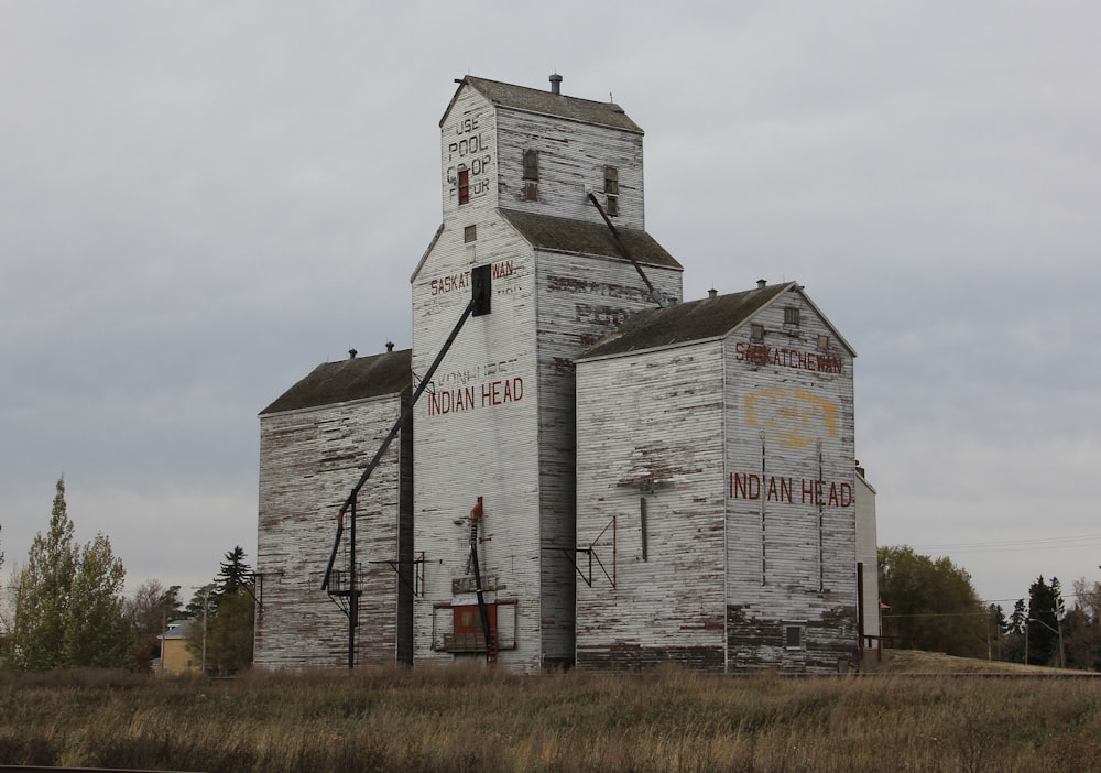
[[[994,668],[1003,676],[991,678]],[[874,673],[833,677],[673,668],[216,682],[4,674],[0,764],[233,773],[1101,770],[1101,679],[1060,676],[928,653],[892,653]]]

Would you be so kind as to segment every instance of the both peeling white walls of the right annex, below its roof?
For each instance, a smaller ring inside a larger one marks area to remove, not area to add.
[[[582,360],[577,401],[578,543],[618,535],[615,587],[578,590],[579,665],[854,658],[852,355],[800,292],[720,340]]]

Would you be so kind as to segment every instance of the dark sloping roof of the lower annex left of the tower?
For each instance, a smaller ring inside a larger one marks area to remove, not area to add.
[[[325,362],[261,411],[260,415],[397,394],[412,383],[412,349]]]

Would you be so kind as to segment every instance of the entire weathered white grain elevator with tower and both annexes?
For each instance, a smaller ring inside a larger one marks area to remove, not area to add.
[[[679,303],[642,130],[559,84],[458,81],[412,351],[262,412],[258,666],[835,671],[877,633],[853,351],[794,283]]]

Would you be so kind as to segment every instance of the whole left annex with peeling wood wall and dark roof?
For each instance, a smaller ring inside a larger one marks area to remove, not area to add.
[[[345,556],[333,578],[338,595],[321,590],[321,581],[337,514],[410,395],[411,355],[318,366],[260,414],[257,666],[348,662],[348,619],[338,608],[351,585]],[[358,502],[355,662],[363,665],[412,661],[413,445],[412,427],[404,429]]]

